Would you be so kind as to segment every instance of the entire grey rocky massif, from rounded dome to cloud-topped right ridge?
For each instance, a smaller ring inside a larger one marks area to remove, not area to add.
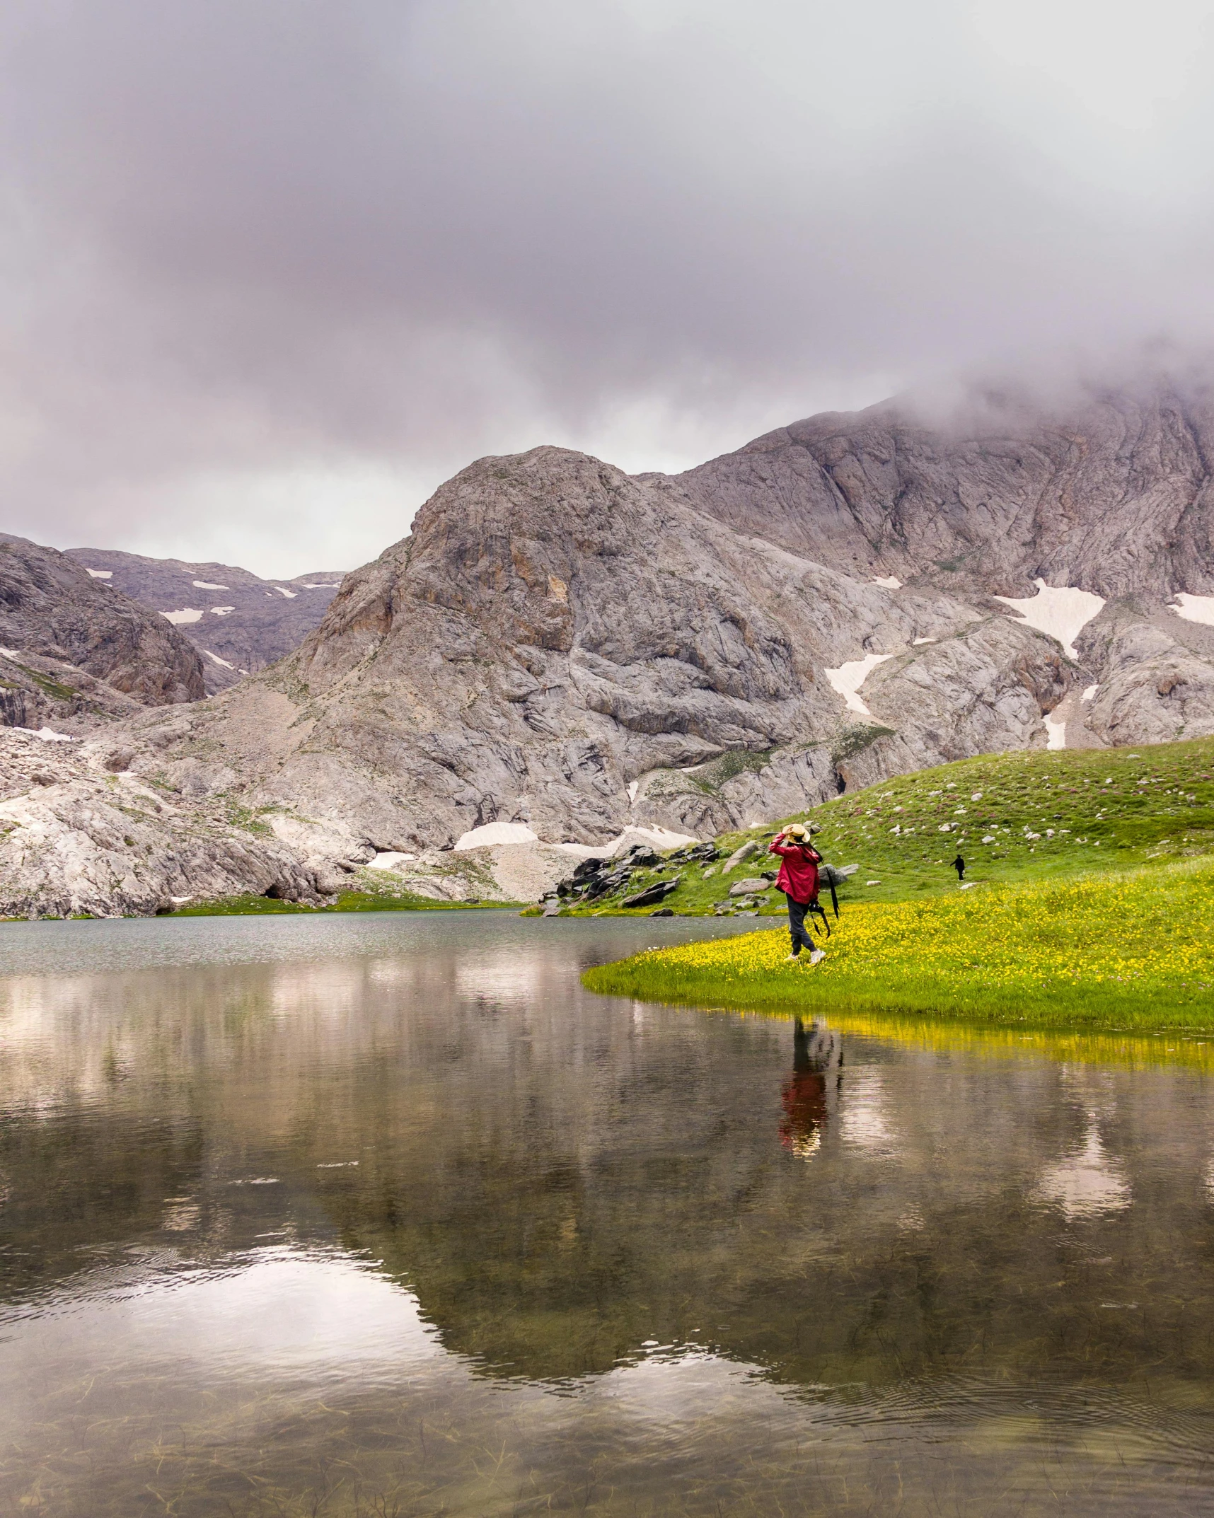
[[[127,718],[126,768],[238,802],[319,890],[507,835],[551,873],[552,846],[704,836],[976,753],[1211,733],[1211,446],[1209,396],[1155,386],[819,416],[680,477],[483,458],[296,651]],[[449,894],[492,896],[495,861]]]

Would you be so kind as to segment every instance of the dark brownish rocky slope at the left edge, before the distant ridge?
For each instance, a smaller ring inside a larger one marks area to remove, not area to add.
[[[197,650],[171,624],[23,537],[0,537],[0,721],[18,727],[205,694]]]

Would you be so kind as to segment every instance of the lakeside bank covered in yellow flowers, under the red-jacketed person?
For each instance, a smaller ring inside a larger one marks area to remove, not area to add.
[[[1038,1028],[1214,1032],[1214,861],[844,911],[818,967],[788,935],[656,949],[590,990],[703,1006],[871,1009]]]

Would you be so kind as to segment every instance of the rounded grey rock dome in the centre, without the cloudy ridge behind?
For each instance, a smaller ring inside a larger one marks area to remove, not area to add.
[[[882,704],[853,723],[826,671],[873,650]],[[1003,609],[857,580],[666,481],[540,448],[443,486],[296,654],[191,713],[165,757],[205,765],[253,733],[256,795],[310,858],[499,818],[596,844],[1044,744],[1065,689],[1058,644]]]

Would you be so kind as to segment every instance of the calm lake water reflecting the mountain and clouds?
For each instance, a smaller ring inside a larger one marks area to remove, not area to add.
[[[578,985],[736,926],[5,927],[0,1513],[1209,1510],[1211,1078]]]

